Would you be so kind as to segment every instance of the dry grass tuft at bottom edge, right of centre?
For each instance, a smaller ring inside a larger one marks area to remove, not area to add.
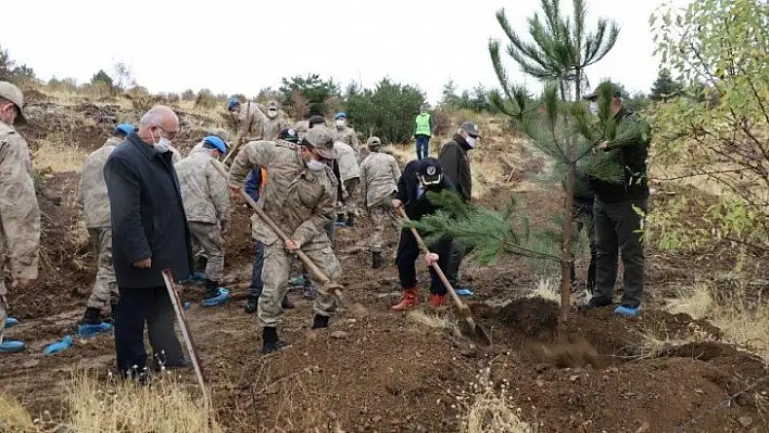
[[[521,420],[520,409],[508,395],[503,382],[497,392],[489,368],[481,371],[468,391],[454,396],[462,412],[462,433],[533,433],[535,425]]]

